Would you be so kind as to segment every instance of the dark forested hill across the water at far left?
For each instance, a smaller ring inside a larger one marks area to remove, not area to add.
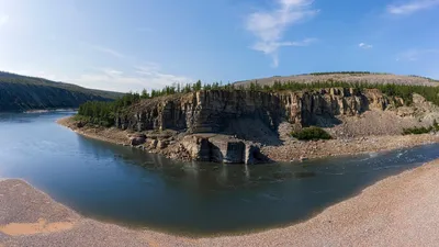
[[[0,112],[78,108],[87,101],[111,101],[120,92],[0,71]]]

